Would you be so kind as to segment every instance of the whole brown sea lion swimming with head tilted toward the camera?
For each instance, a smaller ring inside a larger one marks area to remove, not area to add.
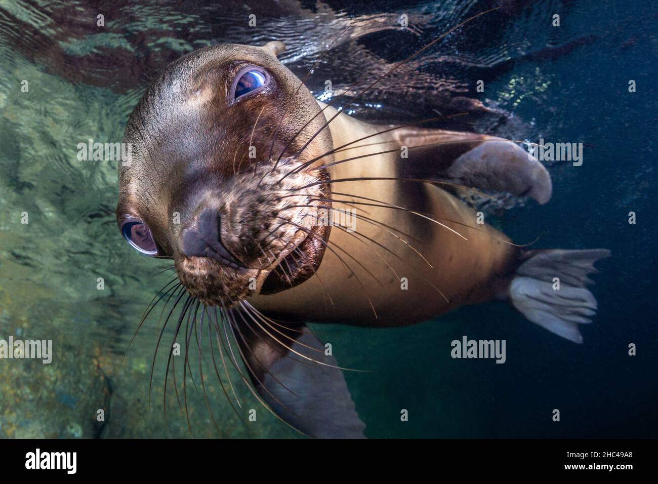
[[[281,419],[312,437],[363,437],[342,371],[305,321],[393,327],[497,299],[582,342],[597,307],[587,275],[607,250],[524,250],[455,196],[546,203],[541,163],[483,134],[349,117],[278,61],[284,48],[185,55],[126,126],[118,225],[139,252],[174,259],[182,288],[161,299],[183,301],[176,335],[188,347],[207,321]],[[327,223],[338,208],[352,223]]]

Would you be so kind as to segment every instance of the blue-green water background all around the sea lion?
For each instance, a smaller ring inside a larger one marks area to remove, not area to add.
[[[597,264],[599,314],[584,344],[529,323],[503,303],[461,308],[421,325],[362,329],[314,325],[340,365],[373,369],[346,379],[368,437],[655,437],[658,416],[658,283],[655,252],[655,129],[658,7],[645,1],[136,2],[119,9],[84,2],[0,0],[0,338],[55,341],[50,367],[2,362],[0,437],[186,437],[170,393],[161,406],[149,371],[157,320],[124,350],[141,311],[168,281],[166,263],[139,257],[114,222],[116,165],[80,163],[76,144],[119,141],[149,80],[205,45],[283,40],[282,61],[303,77],[351,20],[307,86],[339,91],[367,82],[451,26],[455,31],[386,78],[350,114],[366,121],[418,121],[449,113],[451,99],[490,109],[451,124],[533,142],[584,143],[583,164],[551,163],[546,205],[508,198],[494,225],[536,248],[608,248]],[[74,8],[75,7],[75,8]],[[105,28],[95,25],[104,13]],[[246,25],[250,13],[257,26]],[[553,14],[561,26],[551,26]],[[400,28],[402,14],[409,28]],[[20,92],[30,82],[28,95]],[[475,91],[484,80],[485,92]],[[628,92],[628,81],[636,92]],[[30,225],[20,213],[30,212]],[[628,223],[628,213],[637,223]],[[97,277],[107,288],[97,290]],[[156,318],[157,319],[157,318]],[[453,360],[463,335],[503,339],[507,362]],[[637,355],[628,355],[636,344]],[[180,371],[180,369],[179,369]],[[241,424],[215,398],[228,437],[294,437],[276,421]],[[191,390],[196,435],[217,435]],[[241,396],[253,405],[253,397]],[[97,425],[97,408],[108,408]],[[409,421],[400,420],[402,409]],[[553,409],[561,421],[552,421]],[[248,424],[247,424],[248,425]]]

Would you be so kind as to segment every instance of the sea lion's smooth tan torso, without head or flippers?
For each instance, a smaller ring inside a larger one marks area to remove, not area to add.
[[[326,105],[320,103],[320,106],[324,108]],[[336,109],[328,107],[323,112],[327,119],[331,119]],[[382,132],[387,127],[368,124],[341,113],[330,124],[334,141],[332,148]],[[345,148],[337,158],[388,151],[398,142],[394,133],[380,134],[354,145],[368,145],[362,148]],[[396,178],[400,163],[405,161],[396,150],[339,163],[329,170],[332,180]],[[510,242],[509,238],[489,225],[478,224],[473,209],[438,185],[400,180],[359,180],[332,184],[332,192],[359,197],[333,197],[334,200],[355,202],[334,203],[334,209],[354,210],[351,222],[356,224],[356,231],[334,227],[329,246],[336,252],[325,252],[317,276],[277,294],[253,297],[256,308],[277,313],[282,319],[294,317],[363,326],[411,325],[457,306],[495,298],[498,281],[518,265],[519,250],[505,243]],[[374,206],[384,204],[413,212]],[[349,217],[350,213],[345,215]],[[359,215],[381,224],[359,219]],[[402,278],[407,284],[401,281]]]

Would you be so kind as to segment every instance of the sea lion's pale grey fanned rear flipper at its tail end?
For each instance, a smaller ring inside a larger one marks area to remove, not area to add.
[[[594,263],[609,255],[607,249],[534,251],[509,286],[513,306],[551,333],[582,343],[578,325],[591,323],[597,309],[585,287],[594,283],[587,275],[597,273]]]

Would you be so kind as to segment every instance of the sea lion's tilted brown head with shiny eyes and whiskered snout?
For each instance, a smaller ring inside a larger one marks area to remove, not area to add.
[[[119,229],[139,252],[174,259],[180,282],[208,306],[295,286],[324,254],[329,227],[317,212],[330,207],[322,165],[332,160],[322,155],[332,140],[313,95],[276,58],[284,48],[185,55],[126,126]]]

